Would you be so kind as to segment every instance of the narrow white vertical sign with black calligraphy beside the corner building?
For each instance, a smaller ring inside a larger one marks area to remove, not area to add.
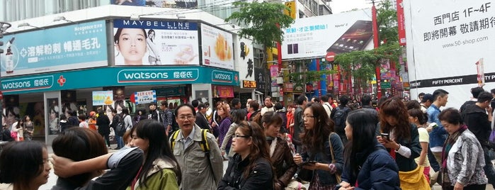
[[[256,89],[254,74],[253,40],[237,36],[236,59],[239,60],[239,79],[241,88]]]

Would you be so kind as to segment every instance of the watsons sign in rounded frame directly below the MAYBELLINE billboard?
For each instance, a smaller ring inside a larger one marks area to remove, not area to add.
[[[193,82],[199,69],[123,69],[117,74],[118,83],[135,82]]]

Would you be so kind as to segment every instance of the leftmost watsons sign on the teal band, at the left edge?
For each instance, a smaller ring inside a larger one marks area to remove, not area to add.
[[[50,89],[53,86],[53,81],[52,75],[23,79],[6,79],[2,80],[1,87],[3,92]]]

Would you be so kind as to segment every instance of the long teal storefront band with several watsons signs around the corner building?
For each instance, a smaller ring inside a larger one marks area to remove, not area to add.
[[[101,86],[215,84],[239,86],[239,72],[211,67],[100,67],[23,77],[2,77],[8,94],[85,89]]]

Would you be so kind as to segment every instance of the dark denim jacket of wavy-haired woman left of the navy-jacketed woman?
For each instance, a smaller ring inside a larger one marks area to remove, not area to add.
[[[342,169],[343,169],[343,145],[342,145],[342,140],[341,138],[337,135],[337,133],[330,133],[329,135],[329,140],[331,142],[332,147],[334,148],[334,157],[336,162],[335,167],[337,168],[338,174],[342,174]],[[301,157],[302,160],[306,161],[317,161],[319,163],[324,163],[324,164],[330,164],[332,159],[331,159],[331,152],[330,152],[330,143],[329,140],[325,141],[325,149],[324,150],[319,150],[318,152],[311,152],[309,151],[309,148],[307,145],[304,145],[304,152],[302,152]],[[311,157],[314,157],[313,160],[310,160]],[[329,171],[326,170],[314,170],[318,174],[319,181],[324,184],[337,184],[336,177],[334,174],[330,174]]]

